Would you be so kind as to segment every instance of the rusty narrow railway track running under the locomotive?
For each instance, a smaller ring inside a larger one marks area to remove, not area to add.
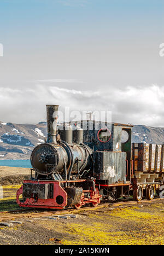
[[[75,214],[79,212],[84,212],[84,211],[92,211],[96,210],[98,208],[103,208],[103,207],[116,207],[116,206],[121,206],[121,205],[142,205],[143,203],[151,203],[154,201],[160,201],[164,199],[153,199],[153,200],[142,200],[140,202],[137,201],[123,201],[123,202],[114,202],[114,203],[101,203],[100,205],[96,207],[83,207],[80,208],[79,210],[76,209],[67,209],[67,210],[57,210],[57,211],[44,211],[44,212],[30,212],[26,213],[29,210],[16,210],[16,211],[5,211],[5,212],[0,212],[0,221],[4,220],[14,220],[18,218],[37,218],[37,217],[47,217],[47,216],[52,216],[54,214],[60,215],[60,214]],[[25,212],[25,213],[24,213]],[[15,214],[14,214],[15,213]]]

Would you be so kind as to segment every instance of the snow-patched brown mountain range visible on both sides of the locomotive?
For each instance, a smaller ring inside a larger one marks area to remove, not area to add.
[[[44,143],[46,134],[45,122],[36,125],[23,125],[0,121],[0,160],[30,159],[33,148]],[[163,144],[164,128],[134,125],[132,142]]]

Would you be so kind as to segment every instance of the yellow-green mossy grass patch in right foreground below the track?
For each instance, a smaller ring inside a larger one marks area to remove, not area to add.
[[[65,245],[164,245],[164,215],[132,209],[106,212],[105,215],[90,214],[90,222],[69,224],[66,232],[75,240],[65,240]],[[95,221],[93,222],[93,219]]]

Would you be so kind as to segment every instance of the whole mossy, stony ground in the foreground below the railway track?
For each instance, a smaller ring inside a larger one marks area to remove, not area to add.
[[[0,245],[164,245],[163,200],[84,209],[77,218],[26,220],[1,227]]]

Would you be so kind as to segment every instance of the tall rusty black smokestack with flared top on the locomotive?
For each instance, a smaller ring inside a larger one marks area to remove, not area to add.
[[[46,105],[46,120],[47,120],[47,129],[48,129],[48,143],[56,142],[56,129],[57,129],[57,114],[58,114],[58,105]]]

